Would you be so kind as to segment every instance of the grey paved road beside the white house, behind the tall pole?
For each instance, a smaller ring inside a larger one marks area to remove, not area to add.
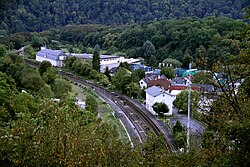
[[[179,120],[182,125],[187,128],[187,115],[178,113],[178,109],[173,107],[173,117],[170,118],[170,122],[174,125]],[[190,119],[190,130],[192,133],[202,134],[205,128],[196,120]]]

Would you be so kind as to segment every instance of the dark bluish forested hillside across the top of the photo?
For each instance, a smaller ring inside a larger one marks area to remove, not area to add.
[[[68,24],[121,25],[184,17],[242,19],[246,0],[13,0],[1,1],[1,34]],[[5,8],[6,7],[6,8]],[[5,10],[4,10],[5,9]]]

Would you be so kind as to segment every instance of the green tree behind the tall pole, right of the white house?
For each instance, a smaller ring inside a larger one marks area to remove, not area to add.
[[[191,112],[195,112],[198,109],[199,102],[199,93],[197,91],[191,91]],[[178,109],[182,110],[185,114],[187,114],[188,108],[188,90],[182,91],[180,94],[176,96],[176,99],[173,102],[174,106]]]

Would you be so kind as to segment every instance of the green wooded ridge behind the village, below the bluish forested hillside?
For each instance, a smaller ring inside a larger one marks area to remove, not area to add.
[[[106,51],[114,46],[118,52],[127,54],[123,56],[133,58],[145,57],[143,44],[145,41],[151,41],[155,45],[154,56],[157,62],[166,58],[182,62],[183,56],[190,54],[197,68],[210,70],[213,62],[227,60],[230,54],[239,53],[240,40],[234,38],[233,33],[243,26],[244,22],[240,20],[210,16],[204,19],[160,20],[126,26],[68,25],[43,31],[39,38],[51,48],[60,49],[62,45],[68,48],[68,43],[71,43],[75,49],[78,47],[88,53],[93,53],[93,48],[89,46],[95,46],[97,43]],[[16,33],[15,36],[23,39],[19,42],[23,46],[30,44],[37,33]],[[108,37],[110,44],[107,44]],[[55,39],[61,44],[55,45]],[[160,41],[157,42],[158,40]],[[12,37],[3,39],[8,48],[13,48],[14,42]],[[145,62],[148,63],[149,58],[147,57]]]

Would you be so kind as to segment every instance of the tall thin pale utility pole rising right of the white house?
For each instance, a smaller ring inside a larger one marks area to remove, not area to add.
[[[192,68],[192,63],[189,63],[189,82],[188,82],[188,122],[187,122],[187,153],[189,152],[190,149],[190,94],[191,94],[191,68]]]

